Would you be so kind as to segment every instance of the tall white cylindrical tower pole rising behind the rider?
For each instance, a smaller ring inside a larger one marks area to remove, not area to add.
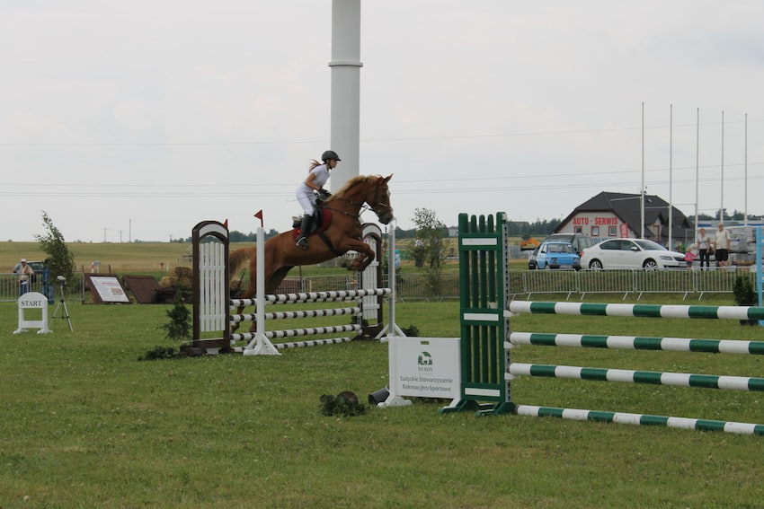
[[[342,162],[332,171],[332,190],[359,175],[360,0],[332,0],[331,149]]]

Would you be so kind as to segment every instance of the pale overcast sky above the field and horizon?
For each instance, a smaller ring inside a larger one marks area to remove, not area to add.
[[[693,214],[698,166],[701,212],[743,210],[747,162],[762,215],[762,19],[758,0],[362,0],[359,172],[394,174],[402,228],[417,208],[533,221],[638,193],[644,146],[647,193],[671,181]],[[43,210],[67,241],[251,232],[260,209],[288,229],[330,148],[331,21],[330,0],[0,0],[0,241],[44,233]]]

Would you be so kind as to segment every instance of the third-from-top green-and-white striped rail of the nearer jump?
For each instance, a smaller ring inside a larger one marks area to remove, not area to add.
[[[507,371],[506,378],[508,380],[511,380],[515,376],[542,376],[573,380],[594,380],[600,382],[652,383],[654,385],[728,389],[732,391],[764,391],[764,378],[752,378],[747,376],[661,373],[653,371],[632,371],[626,369],[523,363],[511,363],[508,366]]]

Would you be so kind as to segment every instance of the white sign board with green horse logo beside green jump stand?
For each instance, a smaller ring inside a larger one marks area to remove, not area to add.
[[[414,398],[459,397],[459,338],[389,338],[390,391]]]

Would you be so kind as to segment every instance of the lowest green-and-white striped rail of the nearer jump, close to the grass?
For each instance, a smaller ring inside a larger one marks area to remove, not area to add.
[[[722,431],[724,433],[764,435],[764,425],[760,424],[690,419],[687,417],[651,416],[648,414],[602,412],[598,410],[581,410],[577,408],[535,407],[532,405],[517,405],[514,408],[514,413],[519,416],[528,417],[559,417],[577,421],[589,420],[636,426],[666,426],[681,429],[694,429],[697,431]]]

